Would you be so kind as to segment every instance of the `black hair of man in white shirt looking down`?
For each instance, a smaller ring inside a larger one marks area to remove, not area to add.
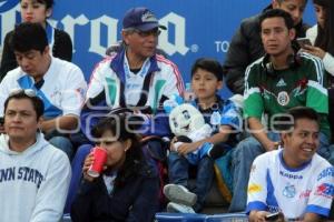
[[[22,22],[18,24],[10,39],[12,50],[18,52],[30,50],[43,52],[48,44],[47,32],[40,23]]]

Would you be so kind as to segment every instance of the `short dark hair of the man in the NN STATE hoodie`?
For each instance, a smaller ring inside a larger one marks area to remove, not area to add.
[[[6,101],[4,101],[4,107],[3,107],[3,115],[7,111],[8,108],[8,103],[10,102],[10,100],[30,100],[33,110],[36,111],[36,119],[38,120],[40,117],[43,115],[45,113],[45,103],[43,101],[39,98],[39,97],[31,97],[24,93],[24,91],[22,90],[21,92],[18,92],[16,94],[9,95]]]

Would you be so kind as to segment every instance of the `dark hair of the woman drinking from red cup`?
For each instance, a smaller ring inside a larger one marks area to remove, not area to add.
[[[126,159],[120,167],[115,186],[121,185],[129,176],[138,173],[138,168],[143,164],[144,154],[141,151],[140,138],[136,133],[138,128],[138,119],[134,119],[134,114],[112,114],[102,119],[91,131],[96,139],[100,139],[102,134],[110,131],[118,141],[131,141],[131,147],[126,152]]]

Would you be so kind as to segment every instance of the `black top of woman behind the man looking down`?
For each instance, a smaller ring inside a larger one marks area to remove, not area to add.
[[[3,42],[3,51],[0,64],[0,82],[4,78],[8,71],[18,67],[16,56],[10,47],[10,39],[13,31],[6,34]],[[52,47],[52,56],[62,60],[72,60],[72,41],[69,34],[62,30],[55,29],[55,42]]]

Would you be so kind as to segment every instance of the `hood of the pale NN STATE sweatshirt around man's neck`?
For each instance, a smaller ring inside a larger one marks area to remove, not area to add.
[[[0,135],[0,152],[8,155],[32,155],[36,152],[39,152],[41,149],[47,147],[49,143],[45,140],[42,133],[36,133],[36,143],[27,148],[22,152],[12,151],[9,149],[9,137],[8,134]]]

